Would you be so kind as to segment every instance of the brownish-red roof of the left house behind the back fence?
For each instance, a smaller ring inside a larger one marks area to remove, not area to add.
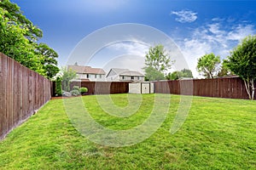
[[[81,74],[106,74],[106,72],[100,68],[91,68],[90,66],[84,65],[67,65],[67,69],[72,69],[73,71],[76,71],[76,73]]]

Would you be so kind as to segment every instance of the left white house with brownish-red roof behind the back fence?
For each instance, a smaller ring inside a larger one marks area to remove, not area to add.
[[[81,82],[104,82],[106,81],[106,72],[100,68],[92,68],[90,66],[78,65],[67,65],[67,69],[76,71],[76,81]]]

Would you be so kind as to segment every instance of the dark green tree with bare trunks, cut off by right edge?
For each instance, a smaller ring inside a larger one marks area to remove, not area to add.
[[[254,99],[256,79],[256,35],[245,37],[227,59],[227,66],[244,81],[249,99]]]

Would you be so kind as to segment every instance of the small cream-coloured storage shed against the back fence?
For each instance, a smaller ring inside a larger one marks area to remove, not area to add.
[[[154,94],[153,82],[129,83],[129,94]]]

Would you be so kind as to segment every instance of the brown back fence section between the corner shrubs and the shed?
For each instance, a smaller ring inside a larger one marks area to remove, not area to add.
[[[127,94],[130,82],[71,82],[73,86],[88,88],[87,94]]]

